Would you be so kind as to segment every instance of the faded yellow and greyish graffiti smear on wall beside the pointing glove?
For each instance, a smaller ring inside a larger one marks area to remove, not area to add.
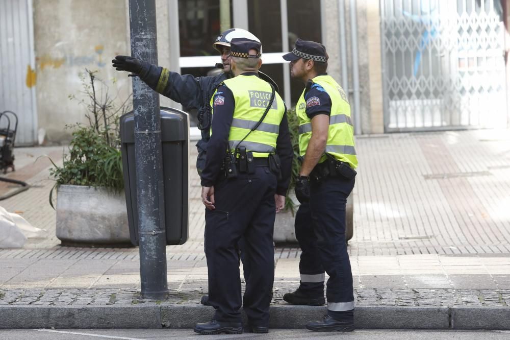
[[[37,65],[39,66],[40,70],[43,70],[46,67],[60,68],[63,65],[67,67],[81,67],[88,65],[95,65],[97,67],[106,66],[106,63],[103,62],[102,58],[104,52],[103,45],[94,46],[94,53],[89,55],[75,55],[72,52],[62,51],[56,52],[58,52],[59,55],[62,55],[62,57],[54,57],[50,54],[44,54],[36,58]]]

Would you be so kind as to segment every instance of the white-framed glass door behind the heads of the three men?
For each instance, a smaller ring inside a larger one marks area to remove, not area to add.
[[[212,44],[222,32],[222,23],[225,26],[227,22],[227,26],[246,29],[261,40],[261,71],[274,79],[287,106],[293,107],[303,84],[290,79],[288,62],[282,56],[292,51],[298,37],[322,41],[321,3],[308,0],[178,0],[179,10],[171,12],[169,19],[179,21],[181,74],[199,77],[221,71],[214,67],[220,62],[220,56]],[[196,115],[191,116],[195,119],[193,116]]]

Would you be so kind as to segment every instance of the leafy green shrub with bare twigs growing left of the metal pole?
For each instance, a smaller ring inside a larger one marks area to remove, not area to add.
[[[79,75],[83,90],[79,99],[69,95],[85,107],[88,125],[67,126],[73,130],[69,152],[64,154],[63,165],[53,162],[50,175],[56,180],[49,194],[53,207],[53,191],[62,184],[106,187],[120,191],[124,187],[120,153],[119,117],[130,110],[131,96],[120,105],[118,93],[111,96],[108,85],[96,76],[97,71],[85,69]],[[115,83],[115,81],[114,81]]]

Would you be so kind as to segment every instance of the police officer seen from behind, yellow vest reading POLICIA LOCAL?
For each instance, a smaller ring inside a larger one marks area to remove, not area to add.
[[[286,108],[258,77],[261,43],[232,39],[235,78],[211,99],[213,119],[201,174],[206,205],[205,248],[213,320],[196,324],[200,334],[239,334],[241,282],[238,240],[245,238],[251,272],[242,299],[249,330],[267,333],[274,280],[273,225],[283,208],[293,157]]]

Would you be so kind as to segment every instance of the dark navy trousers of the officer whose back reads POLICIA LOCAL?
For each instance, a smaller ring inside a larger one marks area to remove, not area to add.
[[[241,322],[242,304],[251,325],[269,323],[275,192],[276,176],[267,166],[257,166],[253,175],[239,174],[214,186],[216,209],[206,209],[205,248],[209,302],[216,309],[215,320]],[[250,273],[241,303],[237,245],[243,236],[242,253]]]

